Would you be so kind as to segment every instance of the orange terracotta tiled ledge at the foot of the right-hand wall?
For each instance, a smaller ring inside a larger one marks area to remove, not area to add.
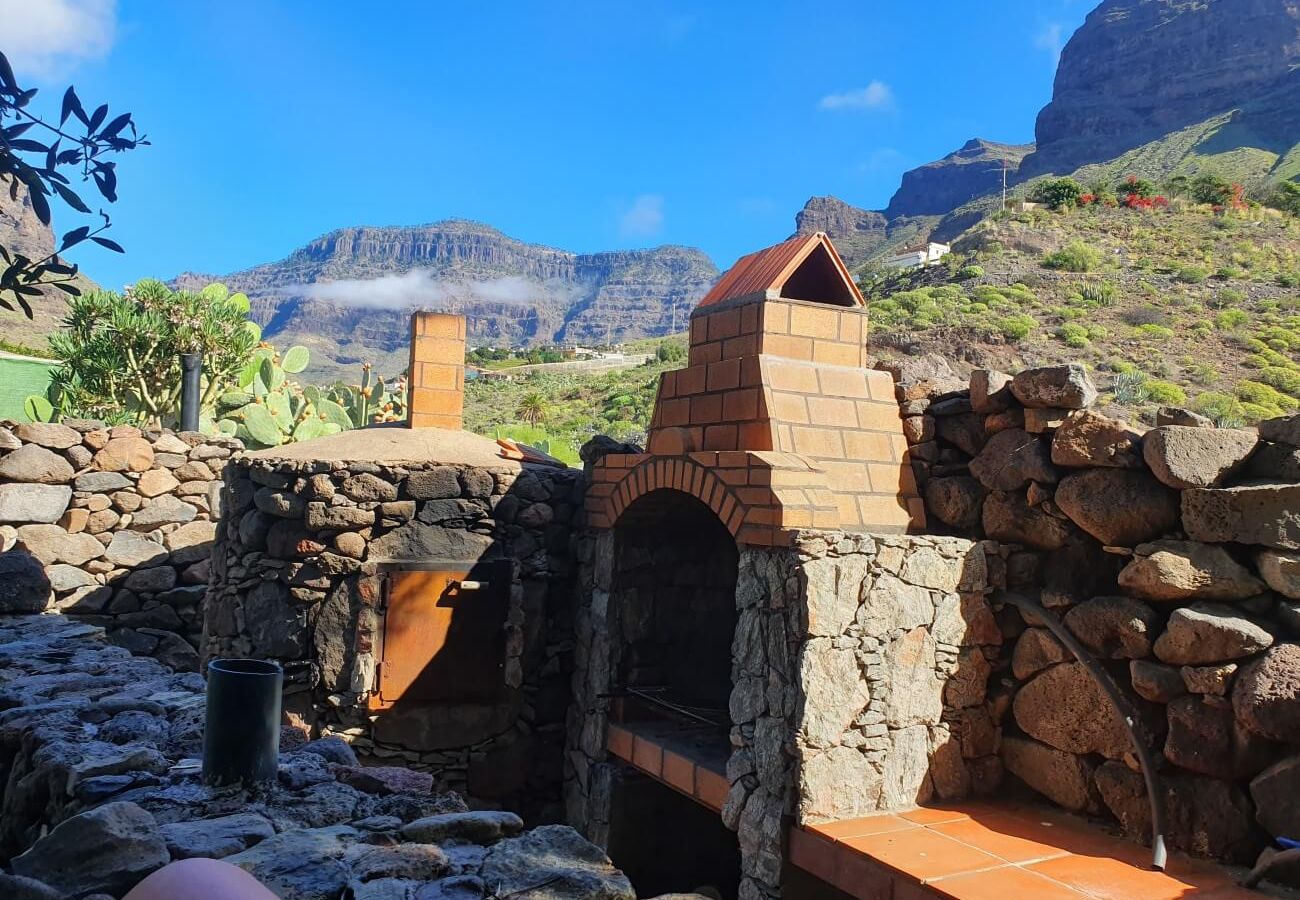
[[[1032,806],[962,804],[790,831],[790,862],[858,900],[1230,900],[1222,869],[1150,852]]]

